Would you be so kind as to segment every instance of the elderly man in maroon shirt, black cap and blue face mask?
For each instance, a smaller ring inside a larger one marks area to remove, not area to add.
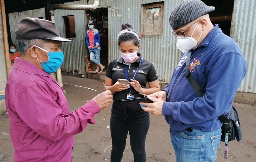
[[[62,87],[49,75],[61,66],[63,52],[56,25],[24,18],[15,30],[20,58],[10,71],[5,99],[15,162],[71,162],[74,135],[112,101],[110,91],[72,113]]]

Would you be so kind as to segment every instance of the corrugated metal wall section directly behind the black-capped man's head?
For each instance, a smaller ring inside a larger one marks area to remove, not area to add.
[[[24,19],[25,17],[43,17],[43,19],[46,19],[44,8],[24,11],[21,13],[9,13],[11,40],[13,41],[13,44],[16,47],[17,47],[17,39],[14,31],[17,29],[18,23],[20,22],[20,20]]]

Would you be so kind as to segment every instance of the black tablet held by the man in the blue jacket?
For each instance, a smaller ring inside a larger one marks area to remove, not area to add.
[[[129,110],[139,111],[139,110],[142,110],[139,104],[140,102],[152,103],[153,101],[143,96],[143,97],[136,97],[136,98],[130,98],[130,99],[122,99],[122,100],[118,100],[118,102]]]

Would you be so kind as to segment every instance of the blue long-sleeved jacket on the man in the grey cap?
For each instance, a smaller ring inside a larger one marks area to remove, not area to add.
[[[203,97],[197,95],[185,77],[188,54],[183,53],[170,83],[163,88],[167,101],[162,114],[170,125],[171,134],[189,127],[205,132],[221,128],[218,117],[230,111],[246,73],[239,45],[223,34],[218,24],[191,53],[191,75],[206,91]]]

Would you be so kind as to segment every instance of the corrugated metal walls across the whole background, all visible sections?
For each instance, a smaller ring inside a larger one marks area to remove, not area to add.
[[[89,1],[90,3],[88,4],[93,4],[93,0]],[[181,1],[182,0],[100,0],[99,8],[108,7],[108,61],[119,57],[116,36],[120,31],[121,24],[130,23],[135,30],[142,34],[141,5],[152,2],[164,2],[163,34],[144,36],[141,38],[141,49],[139,52],[143,55],[143,58],[150,60],[154,64],[161,82],[168,83],[181,55],[181,52],[176,48],[175,37],[171,34],[172,30],[169,26],[169,15]],[[87,0],[66,4],[87,4]],[[254,25],[248,25],[256,24],[254,18],[255,9],[255,0],[235,0],[234,2],[230,37],[234,38],[234,40],[239,43],[248,66],[247,75],[239,87],[239,92],[256,93],[256,79],[254,78],[256,72],[254,67],[256,62],[256,56],[254,55],[254,51],[256,51],[256,42],[254,38],[256,35],[256,27]],[[31,15],[35,15],[35,11],[25,11],[20,14],[23,13],[27,14],[27,16],[24,17],[33,17]],[[44,10],[42,10],[41,13],[44,15]],[[9,14],[9,16],[11,17],[12,14],[13,13]],[[15,13],[15,15],[17,14],[18,13]],[[85,28],[85,24],[82,24],[85,21],[83,11],[55,11],[55,21],[61,36],[63,36],[62,17],[74,14],[80,14],[78,16],[79,20],[76,20],[77,32],[79,28]],[[10,26],[15,26],[15,29],[17,28],[18,22],[16,19],[17,18],[14,18],[14,15],[12,19],[10,18]],[[11,32],[14,33],[15,29],[11,29]],[[76,38],[79,41],[74,41],[74,46],[68,43],[63,43],[65,62],[63,63],[62,68],[67,71],[70,70],[73,73],[74,70],[78,70],[81,73],[84,72],[83,70],[86,66],[84,36],[85,33],[81,32],[79,38]],[[15,38],[15,35],[12,34],[12,38]]]

